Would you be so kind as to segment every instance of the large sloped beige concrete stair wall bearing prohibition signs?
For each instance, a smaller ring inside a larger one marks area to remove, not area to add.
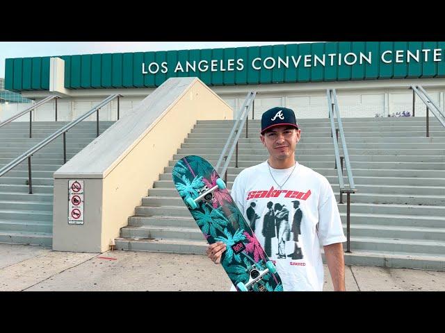
[[[104,252],[198,119],[233,110],[197,78],[171,78],[54,173],[53,249]],[[68,225],[68,180],[84,180],[83,225]]]

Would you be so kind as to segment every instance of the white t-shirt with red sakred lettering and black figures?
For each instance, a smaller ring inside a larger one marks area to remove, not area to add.
[[[295,169],[269,169],[263,162],[241,171],[232,198],[277,267],[284,291],[322,291],[321,246],[346,241],[327,179],[298,162]]]

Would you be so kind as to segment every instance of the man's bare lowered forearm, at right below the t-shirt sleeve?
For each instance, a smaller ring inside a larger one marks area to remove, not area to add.
[[[345,259],[343,244],[335,243],[323,246],[327,267],[332,278],[334,291],[345,291]]]

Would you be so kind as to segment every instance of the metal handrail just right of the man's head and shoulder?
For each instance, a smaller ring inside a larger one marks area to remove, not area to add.
[[[347,195],[347,208],[346,208],[346,233],[347,233],[347,248],[346,252],[350,253],[350,194],[355,193],[357,189],[355,189],[353,172],[350,167],[349,155],[348,155],[348,147],[346,146],[345,133],[343,130],[343,123],[341,122],[341,116],[339,111],[339,102],[337,101],[337,92],[335,89],[327,89],[327,107],[329,111],[329,118],[331,122],[331,131],[332,131],[332,141],[334,142],[334,152],[335,152],[335,165],[337,168],[337,176],[339,178],[339,187],[340,187],[340,200],[339,203],[343,203],[343,193]],[[332,101],[333,100],[333,101]],[[343,160],[340,162],[340,151],[339,144],[337,142],[337,130],[335,128],[334,117],[337,117],[337,123],[339,124],[338,131],[340,133],[341,146],[343,148],[344,160],[346,162],[346,173],[348,175],[348,186],[347,189],[343,183]],[[340,167],[341,165],[341,167]],[[340,171],[341,168],[341,171]]]

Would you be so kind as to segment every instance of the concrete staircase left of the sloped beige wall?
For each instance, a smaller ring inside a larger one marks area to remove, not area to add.
[[[103,133],[114,121],[99,121]],[[0,128],[0,168],[65,126],[63,121],[13,122]],[[96,138],[96,122],[83,121],[66,135],[67,160]],[[53,173],[63,165],[60,136],[31,158],[33,194],[29,194],[28,160],[0,177],[0,243],[51,246]]]

